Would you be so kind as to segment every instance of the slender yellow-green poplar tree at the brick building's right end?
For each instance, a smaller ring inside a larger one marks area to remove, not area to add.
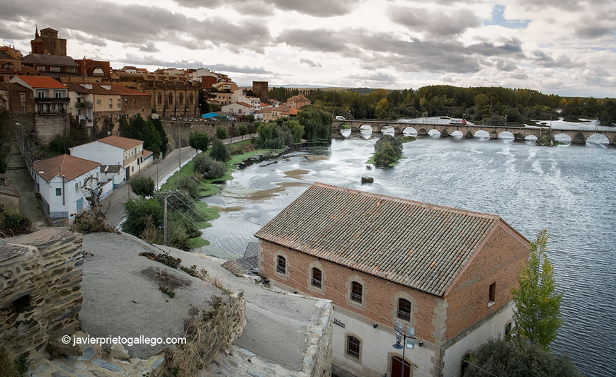
[[[520,289],[511,289],[514,334],[531,343],[547,348],[557,337],[562,324],[560,305],[562,291],[554,282],[554,266],[547,259],[547,239],[544,229],[537,233],[537,240],[530,243],[528,264],[518,277]]]

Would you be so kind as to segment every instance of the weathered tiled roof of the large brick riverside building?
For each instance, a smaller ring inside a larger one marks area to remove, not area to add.
[[[499,221],[317,182],[255,236],[443,296]]]

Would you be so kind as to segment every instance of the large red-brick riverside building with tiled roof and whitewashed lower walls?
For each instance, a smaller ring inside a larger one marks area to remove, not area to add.
[[[255,236],[275,285],[334,304],[338,376],[399,376],[394,325],[414,327],[404,376],[460,376],[511,328],[529,242],[499,216],[315,183]]]

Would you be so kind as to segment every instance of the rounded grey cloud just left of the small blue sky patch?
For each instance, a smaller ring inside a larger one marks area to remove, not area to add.
[[[458,35],[468,28],[481,25],[479,17],[469,9],[440,8],[438,11],[428,11],[425,8],[396,6],[390,8],[388,13],[392,21],[409,30],[434,37]]]

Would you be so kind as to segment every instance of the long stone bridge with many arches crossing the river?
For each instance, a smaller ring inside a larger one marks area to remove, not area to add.
[[[360,129],[370,127],[372,132],[382,132],[384,127],[392,127],[396,134],[401,134],[406,128],[415,129],[419,135],[427,135],[435,129],[442,137],[450,136],[455,131],[462,132],[464,137],[474,137],[479,131],[485,131],[491,139],[498,138],[503,132],[511,132],[515,140],[524,140],[526,137],[540,137],[542,132],[549,131],[549,127],[520,127],[520,126],[490,126],[484,124],[429,124],[429,123],[405,123],[382,120],[334,120],[333,130],[341,129],[342,124],[350,126],[351,131],[359,132]],[[594,134],[603,134],[610,144],[616,145],[616,131],[595,131],[589,129],[552,129],[552,134],[566,134],[571,139],[571,144],[586,144],[586,140]]]

